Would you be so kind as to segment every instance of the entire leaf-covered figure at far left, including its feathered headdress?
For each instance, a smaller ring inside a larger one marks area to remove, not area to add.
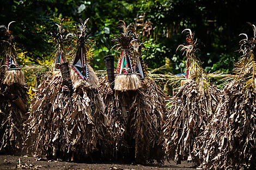
[[[14,22],[14,21],[13,21]],[[5,28],[4,58],[0,67],[0,154],[19,154],[25,138],[23,122],[27,119],[27,91],[24,74],[17,64],[14,36]]]

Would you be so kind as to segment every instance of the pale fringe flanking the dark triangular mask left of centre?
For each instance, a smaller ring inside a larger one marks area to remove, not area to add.
[[[82,80],[78,74],[71,68],[70,66],[70,77],[72,80],[72,84],[74,86],[74,90],[77,89],[81,84],[83,84],[86,87],[89,87],[89,89],[97,89],[97,84],[99,83],[99,78],[94,73],[93,68],[88,65],[88,79]]]

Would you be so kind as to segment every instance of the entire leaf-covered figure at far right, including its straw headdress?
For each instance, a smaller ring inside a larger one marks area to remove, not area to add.
[[[235,64],[235,80],[221,93],[216,115],[199,137],[194,152],[206,169],[256,168],[256,67],[254,36],[240,41],[243,53]],[[200,147],[199,147],[200,146]]]

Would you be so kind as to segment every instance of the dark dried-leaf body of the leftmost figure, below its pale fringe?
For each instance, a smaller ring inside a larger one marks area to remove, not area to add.
[[[16,81],[11,85],[0,82],[0,154],[21,154],[22,142],[25,140],[23,122],[27,115],[22,114],[17,105],[7,97],[14,93],[23,102],[20,104],[27,108],[28,87],[26,84],[18,84],[19,80]]]

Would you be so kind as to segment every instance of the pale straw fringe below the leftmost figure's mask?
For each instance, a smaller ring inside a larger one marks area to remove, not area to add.
[[[18,83],[20,85],[25,85],[24,73],[21,70],[7,70],[4,74],[3,84],[8,86]]]

